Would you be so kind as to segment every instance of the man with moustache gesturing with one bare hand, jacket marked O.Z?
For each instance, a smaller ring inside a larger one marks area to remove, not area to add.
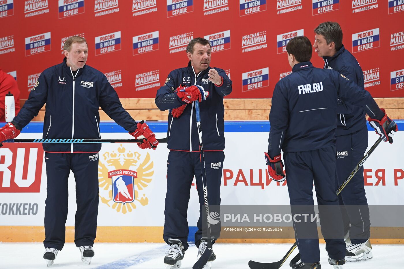
[[[170,109],[168,114],[167,194],[164,222],[164,241],[170,250],[164,263],[179,267],[188,248],[187,208],[192,179],[196,177],[200,202],[200,216],[204,216],[204,194],[199,156],[198,127],[195,101],[200,103],[202,142],[206,163],[208,204],[220,205],[220,182],[223,169],[224,106],[223,97],[231,93],[231,80],[225,71],[211,68],[210,44],[203,38],[191,40],[187,46],[189,64],[170,72],[166,83],[156,94],[160,110]],[[202,86],[202,88],[200,87]],[[173,90],[174,89],[174,90]],[[185,94],[184,94],[185,92]],[[209,92],[207,94],[206,92]],[[206,98],[205,98],[206,97]],[[206,225],[199,218],[195,244],[200,254],[206,248]],[[211,225],[212,235],[218,238],[220,222]],[[210,257],[214,260],[214,256]],[[177,265],[176,265],[177,264]]]

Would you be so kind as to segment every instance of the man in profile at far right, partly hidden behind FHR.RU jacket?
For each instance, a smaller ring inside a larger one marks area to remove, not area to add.
[[[324,59],[324,69],[333,69],[363,88],[362,69],[356,58],[345,50],[339,24],[327,21],[318,25],[314,32],[316,38],[313,47],[318,56]],[[337,113],[336,149],[337,152],[347,152],[347,154],[337,156],[336,189],[351,173],[353,166],[363,158],[368,147],[368,128],[363,108],[354,106],[351,101],[346,102],[338,98]],[[338,198],[347,243],[345,260],[358,261],[372,258],[372,245],[369,241],[369,208],[364,188],[363,167],[360,167]]]

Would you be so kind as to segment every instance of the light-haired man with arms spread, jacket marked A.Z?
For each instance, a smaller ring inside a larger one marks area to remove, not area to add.
[[[136,123],[122,108],[114,88],[103,73],[85,65],[86,40],[74,36],[65,41],[62,63],[42,72],[28,100],[11,123],[0,128],[0,141],[15,138],[46,103],[43,138],[100,139],[99,107],[132,136],[147,139],[141,148],[156,146],[154,133]],[[65,243],[67,180],[76,179],[77,211],[74,242],[82,261],[90,263],[97,230],[98,152],[100,143],[44,143],[46,163],[45,253],[48,266]]]

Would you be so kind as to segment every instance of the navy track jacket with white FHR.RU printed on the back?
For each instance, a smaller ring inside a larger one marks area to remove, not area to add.
[[[310,62],[296,64],[275,86],[269,113],[269,156],[274,158],[281,149],[300,152],[334,146],[337,97],[364,107],[373,118],[384,116],[370,93],[355,82]]]

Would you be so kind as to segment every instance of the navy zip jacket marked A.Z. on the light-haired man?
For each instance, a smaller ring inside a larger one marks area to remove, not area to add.
[[[100,71],[84,65],[75,76],[65,60],[45,69],[29,93],[15,123],[22,129],[46,103],[45,139],[99,139],[99,107],[126,131],[137,129],[118,98],[107,77]],[[98,152],[101,143],[44,143],[46,152]]]

